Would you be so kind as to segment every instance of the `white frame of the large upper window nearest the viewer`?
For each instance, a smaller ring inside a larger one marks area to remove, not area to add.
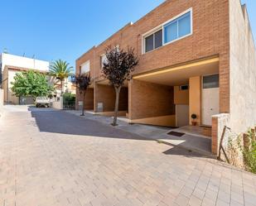
[[[184,14],[186,14],[187,12],[191,12],[191,33],[187,34],[186,36],[181,36],[179,38],[177,38],[176,40],[173,40],[173,41],[169,41],[167,43],[164,42],[164,26],[167,24],[167,23],[170,23],[170,22],[173,22],[174,20],[176,20],[177,18],[183,16]],[[186,11],[184,12],[181,12],[180,14],[178,14],[176,17],[172,17],[171,19],[169,19],[167,22],[163,22],[161,25],[153,28],[152,30],[150,31],[147,31],[146,33],[144,33],[142,35],[142,55],[143,54],[146,54],[148,52],[151,52],[152,50],[149,50],[146,52],[146,38],[147,36],[151,36],[153,33],[157,32],[157,31],[160,31],[162,29],[162,46],[167,46],[175,41],[179,41],[181,39],[184,39],[186,38],[187,36],[191,36],[193,34],[193,8],[189,8],[187,9]],[[153,42],[153,46],[155,45],[155,40]],[[161,48],[162,46],[158,47],[157,49]],[[155,46],[154,46],[155,47]],[[153,50],[157,50],[157,49],[153,49]]]

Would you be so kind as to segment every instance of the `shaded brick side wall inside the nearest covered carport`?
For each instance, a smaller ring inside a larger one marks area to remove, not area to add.
[[[175,114],[173,87],[133,79],[129,95],[129,119]]]

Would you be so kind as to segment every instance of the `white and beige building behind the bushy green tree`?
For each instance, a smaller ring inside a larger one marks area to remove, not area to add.
[[[49,62],[43,60],[35,60],[24,56],[10,55],[6,53],[0,54],[0,65],[2,73],[2,89],[4,91],[4,102],[19,104],[33,103],[31,98],[18,98],[12,93],[12,81],[17,72],[27,71],[29,69],[37,70],[41,74],[48,74]]]

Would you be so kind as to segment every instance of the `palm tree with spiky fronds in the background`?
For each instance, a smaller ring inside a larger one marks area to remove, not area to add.
[[[61,95],[63,93],[63,81],[72,75],[73,67],[65,60],[56,60],[50,66],[50,75],[60,80]]]

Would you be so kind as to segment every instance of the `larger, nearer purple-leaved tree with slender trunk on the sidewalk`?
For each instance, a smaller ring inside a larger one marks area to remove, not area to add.
[[[134,49],[128,47],[127,50],[115,46],[107,47],[106,60],[103,63],[103,74],[106,79],[109,79],[110,84],[114,86],[116,93],[115,107],[114,107],[114,120],[112,125],[117,125],[118,118],[118,106],[119,106],[119,93],[124,84],[124,81],[128,79],[131,72],[138,65],[138,57],[134,55]]]

